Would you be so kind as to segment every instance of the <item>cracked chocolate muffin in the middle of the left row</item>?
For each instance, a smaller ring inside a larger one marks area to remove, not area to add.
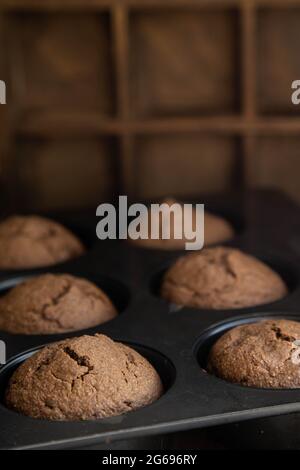
[[[68,274],[31,278],[0,297],[0,330],[52,334],[90,328],[117,311],[107,295],[86,279]]]

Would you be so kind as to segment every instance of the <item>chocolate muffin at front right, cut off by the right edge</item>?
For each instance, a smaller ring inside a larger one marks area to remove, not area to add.
[[[266,320],[238,326],[212,347],[207,370],[249,387],[300,387],[300,323]]]

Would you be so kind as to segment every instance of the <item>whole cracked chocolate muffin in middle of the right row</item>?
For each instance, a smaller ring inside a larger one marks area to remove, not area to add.
[[[164,275],[161,295],[177,305],[202,309],[252,307],[288,292],[281,277],[237,249],[206,248],[179,258]]]

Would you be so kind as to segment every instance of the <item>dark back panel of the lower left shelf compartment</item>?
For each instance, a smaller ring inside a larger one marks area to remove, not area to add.
[[[116,155],[110,139],[19,139],[16,152],[18,193],[28,210],[93,207],[114,192]]]

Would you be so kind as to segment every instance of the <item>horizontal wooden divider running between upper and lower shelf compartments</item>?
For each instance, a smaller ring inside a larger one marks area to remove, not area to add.
[[[203,118],[166,118],[144,121],[99,119],[97,114],[34,113],[18,122],[17,133],[28,137],[62,137],[69,134],[153,134],[177,132],[216,132],[224,134],[297,134],[299,118],[261,117],[253,121],[238,116]]]

